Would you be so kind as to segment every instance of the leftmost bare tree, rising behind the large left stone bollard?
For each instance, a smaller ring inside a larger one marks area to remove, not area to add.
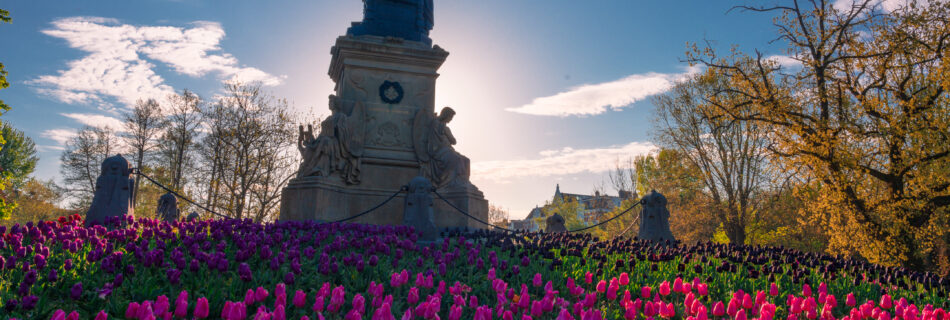
[[[96,192],[96,178],[102,161],[118,152],[118,141],[110,129],[85,127],[66,142],[60,156],[64,189],[76,201],[75,208],[88,206]]]

